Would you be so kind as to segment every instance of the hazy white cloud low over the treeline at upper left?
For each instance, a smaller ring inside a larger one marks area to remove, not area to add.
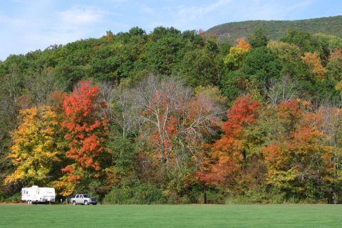
[[[7,43],[0,50],[0,59],[10,53],[19,54],[44,49],[51,44],[65,44],[80,38],[100,36],[105,33],[101,26],[107,12],[95,6],[71,6],[61,11],[26,9],[21,14],[0,15],[0,26],[5,36],[1,43]]]

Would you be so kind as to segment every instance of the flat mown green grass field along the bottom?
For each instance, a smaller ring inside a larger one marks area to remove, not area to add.
[[[342,227],[342,205],[0,205],[0,227]]]

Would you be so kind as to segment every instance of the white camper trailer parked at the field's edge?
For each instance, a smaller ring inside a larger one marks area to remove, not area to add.
[[[21,201],[28,204],[37,202],[55,202],[55,189],[53,187],[23,187],[21,189]]]

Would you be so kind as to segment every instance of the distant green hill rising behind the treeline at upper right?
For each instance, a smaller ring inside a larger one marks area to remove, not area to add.
[[[207,33],[213,33],[220,38],[234,40],[249,36],[256,28],[264,28],[266,36],[279,39],[288,28],[301,28],[311,33],[326,33],[342,37],[342,16],[322,17],[297,21],[242,21],[221,24],[209,28]]]

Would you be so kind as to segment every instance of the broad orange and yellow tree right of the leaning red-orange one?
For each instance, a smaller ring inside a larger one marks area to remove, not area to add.
[[[331,147],[324,144],[326,136],[319,129],[322,115],[311,112],[310,106],[305,100],[277,105],[275,122],[268,120],[272,136],[260,150],[269,185],[290,196],[315,199],[324,194]]]

